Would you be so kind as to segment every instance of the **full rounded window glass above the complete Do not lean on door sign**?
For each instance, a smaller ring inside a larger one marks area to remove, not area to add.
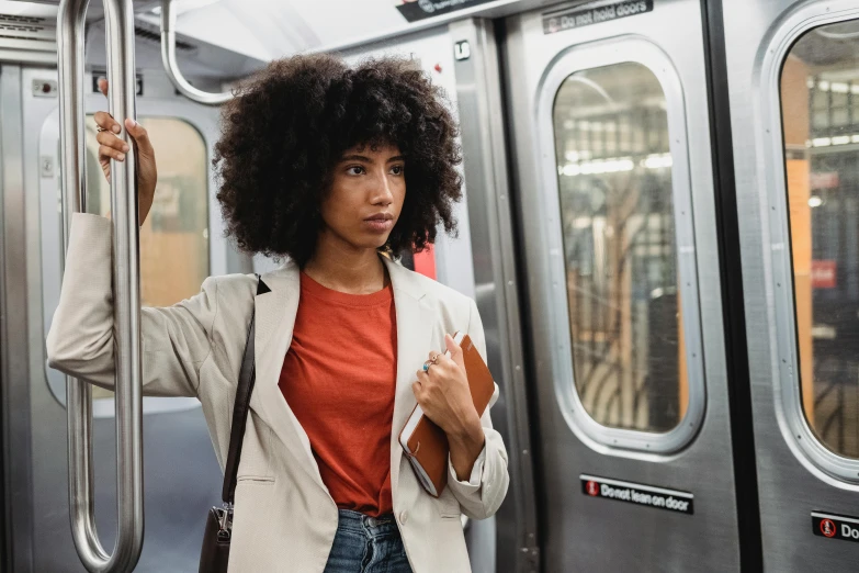
[[[637,63],[577,71],[553,110],[575,390],[652,432],[688,404],[666,99]]]

